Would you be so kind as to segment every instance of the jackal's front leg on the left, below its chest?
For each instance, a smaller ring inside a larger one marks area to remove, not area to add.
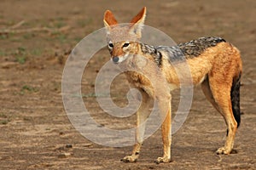
[[[141,91],[143,95],[143,101],[140,105],[139,110],[137,111],[137,129],[136,129],[136,144],[134,144],[131,156],[125,156],[121,161],[125,162],[135,162],[138,159],[141,146],[143,144],[143,138],[146,127],[146,120],[150,113],[149,108],[153,105],[154,100],[151,99],[148,94],[143,90]]]

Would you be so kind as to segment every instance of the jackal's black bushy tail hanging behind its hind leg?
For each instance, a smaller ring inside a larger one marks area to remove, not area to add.
[[[238,77],[233,78],[233,83],[231,87],[231,103],[232,103],[232,111],[233,115],[237,122],[237,127],[239,127],[241,122],[241,113],[240,113],[240,80],[241,80],[241,72]]]

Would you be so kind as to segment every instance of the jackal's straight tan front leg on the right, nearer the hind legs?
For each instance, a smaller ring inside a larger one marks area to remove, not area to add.
[[[171,161],[171,144],[172,144],[172,111],[171,111],[171,96],[170,98],[161,99],[159,101],[160,107],[160,116],[163,119],[163,123],[161,126],[162,131],[162,141],[163,141],[163,149],[164,155],[162,157],[158,157],[155,161],[156,163],[160,162],[170,162]]]

